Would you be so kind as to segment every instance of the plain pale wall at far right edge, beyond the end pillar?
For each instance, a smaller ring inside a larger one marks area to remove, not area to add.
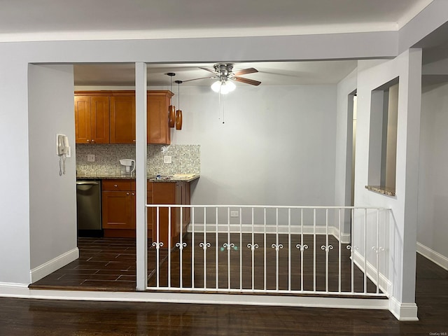
[[[447,127],[448,83],[425,87],[421,97],[417,241],[440,253],[445,261],[448,260]]]

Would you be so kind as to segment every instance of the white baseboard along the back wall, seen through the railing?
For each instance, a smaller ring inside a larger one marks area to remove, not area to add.
[[[188,226],[188,232],[193,232],[193,225]],[[214,233],[216,232],[216,224],[206,224],[206,229],[208,233]],[[251,233],[252,232],[252,225],[251,224],[218,224],[218,232],[219,233],[227,233],[228,229],[230,233],[239,233],[240,230],[242,233]],[[313,235],[314,234],[314,226],[313,225],[294,225],[290,227],[290,233],[292,235],[300,235],[302,232],[304,235]],[[325,227],[325,225],[316,225],[316,235],[332,235],[337,240],[339,240],[339,230],[335,228],[334,226],[328,226],[328,228]],[[253,225],[253,232],[255,234],[274,234],[276,232],[279,232],[280,234],[288,234],[288,226],[287,225],[279,225],[278,227],[276,225],[260,225],[255,224]],[[204,224],[195,224],[195,233],[204,233]],[[341,243],[342,244],[349,244],[350,242],[350,234],[342,233],[341,235]]]

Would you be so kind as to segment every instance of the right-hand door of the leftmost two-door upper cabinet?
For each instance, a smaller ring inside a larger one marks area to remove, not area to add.
[[[92,143],[109,144],[109,97],[90,97]]]

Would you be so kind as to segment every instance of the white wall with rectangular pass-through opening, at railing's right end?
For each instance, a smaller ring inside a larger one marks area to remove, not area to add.
[[[358,115],[356,137],[355,205],[386,207],[392,211],[390,253],[395,314],[416,318],[415,258],[416,208],[419,165],[419,123],[421,106],[421,50],[403,52],[397,58],[368,68],[360,61],[358,71]],[[365,189],[369,167],[369,133],[371,92],[376,87],[400,76],[398,97],[397,167],[395,197]],[[403,303],[405,302],[405,303]],[[403,305],[404,304],[404,305]],[[409,308],[401,311],[403,307]],[[394,309],[392,309],[394,311]]]

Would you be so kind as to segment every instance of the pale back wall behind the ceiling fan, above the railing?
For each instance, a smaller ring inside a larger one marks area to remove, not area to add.
[[[193,204],[333,205],[335,103],[335,85],[241,85],[221,107],[209,87],[182,87],[172,143],[201,145]]]

